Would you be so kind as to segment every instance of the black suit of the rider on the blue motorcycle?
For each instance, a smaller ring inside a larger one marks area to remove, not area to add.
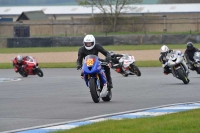
[[[98,53],[102,53],[104,56],[106,56],[106,61],[107,62],[110,62],[111,60],[111,57],[110,57],[110,54],[108,51],[106,51],[101,44],[95,44],[94,48],[91,49],[91,50],[87,50],[85,48],[85,46],[82,46],[79,51],[78,51],[78,59],[77,59],[77,67],[78,66],[82,66],[82,61],[83,59],[87,56],[87,55],[96,55],[98,56]],[[108,66],[104,66],[104,70],[105,70],[105,73],[106,73],[106,78],[107,78],[107,81],[108,81],[108,88],[113,88],[113,85],[112,85],[112,78],[111,78],[111,74],[110,74],[110,68]]]

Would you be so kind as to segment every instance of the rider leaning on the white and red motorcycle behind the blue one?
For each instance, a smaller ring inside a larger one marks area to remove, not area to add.
[[[123,63],[119,62],[122,54],[115,54],[113,51],[109,51],[111,56],[112,68],[116,68],[116,72],[121,73],[123,76],[128,76],[128,72],[123,68]]]

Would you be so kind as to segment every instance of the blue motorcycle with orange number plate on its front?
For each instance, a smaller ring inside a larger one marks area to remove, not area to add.
[[[83,63],[84,80],[90,89],[92,100],[95,103],[100,101],[110,101],[112,98],[112,91],[107,88],[107,79],[103,65],[108,65],[107,62],[100,61],[96,55],[88,55],[85,57]]]

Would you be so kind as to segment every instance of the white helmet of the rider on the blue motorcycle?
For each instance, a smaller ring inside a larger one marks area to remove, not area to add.
[[[87,50],[91,50],[95,46],[95,38],[93,35],[86,35],[83,39],[83,44]]]

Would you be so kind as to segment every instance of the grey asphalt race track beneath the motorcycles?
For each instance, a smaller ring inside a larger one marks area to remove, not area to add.
[[[200,75],[194,71],[185,85],[164,75],[162,68],[140,68],[141,77],[123,77],[112,70],[112,100],[94,103],[80,71],[42,70],[42,78],[23,78],[13,69],[0,69],[0,78],[21,79],[0,82],[0,132],[200,100]]]

